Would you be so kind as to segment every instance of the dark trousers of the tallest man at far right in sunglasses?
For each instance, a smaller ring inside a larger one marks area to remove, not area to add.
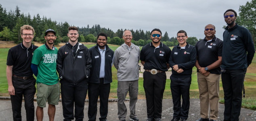
[[[237,70],[226,70],[221,73],[222,86],[224,90],[226,121],[239,121],[242,105],[243,80],[247,68]]]

